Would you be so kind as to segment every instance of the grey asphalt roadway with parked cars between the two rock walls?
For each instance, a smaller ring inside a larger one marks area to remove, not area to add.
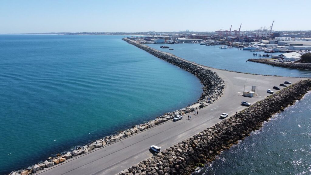
[[[193,115],[194,112],[192,112],[183,116],[182,120],[176,122],[167,121],[161,125],[156,125],[101,149],[69,159],[38,174],[118,174],[120,171],[151,157],[150,145],[157,145],[162,149],[166,149],[220,122],[220,114],[225,112],[231,116],[236,111],[244,109],[245,106],[241,106],[241,101],[246,100],[253,104],[270,95],[266,91],[272,89],[273,86],[280,87],[279,84],[284,83],[284,81],[295,83],[304,79],[235,73],[218,69],[211,70],[218,73],[225,81],[224,95],[213,104],[198,110],[198,115]],[[252,98],[243,97],[244,85],[245,90],[248,91],[251,90],[252,85],[256,86],[257,96]],[[277,90],[273,91],[276,92]],[[191,120],[188,120],[188,115],[191,115]]]

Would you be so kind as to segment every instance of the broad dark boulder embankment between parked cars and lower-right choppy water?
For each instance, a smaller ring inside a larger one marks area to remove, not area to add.
[[[299,81],[119,174],[191,174],[195,168],[213,161],[221,151],[258,130],[264,121],[293,105],[310,90],[310,79]]]

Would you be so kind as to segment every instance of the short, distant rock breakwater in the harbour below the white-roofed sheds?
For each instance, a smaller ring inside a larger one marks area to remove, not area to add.
[[[275,61],[269,61],[267,59],[248,59],[248,61],[269,64],[272,66],[278,66],[283,68],[311,70],[311,63],[280,63]]]

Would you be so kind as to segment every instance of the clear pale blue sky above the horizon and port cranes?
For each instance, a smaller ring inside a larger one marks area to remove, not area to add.
[[[311,30],[311,0],[0,0],[0,33]]]

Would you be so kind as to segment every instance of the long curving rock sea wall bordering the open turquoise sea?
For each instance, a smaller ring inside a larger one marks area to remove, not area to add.
[[[151,128],[155,125],[159,125],[165,121],[169,121],[173,119],[176,115],[184,115],[186,113],[196,111],[204,106],[209,105],[212,102],[215,102],[223,94],[223,90],[225,88],[225,82],[213,71],[208,70],[208,69],[203,69],[200,66],[181,60],[176,56],[170,56],[168,54],[164,54],[163,52],[160,52],[155,49],[151,49],[145,45],[138,44],[131,40],[128,40],[128,39],[123,39],[123,40],[126,40],[130,44],[133,44],[143,50],[146,50],[147,52],[155,55],[156,57],[163,59],[171,64],[174,64],[178,66],[179,68],[182,68],[190,73],[193,73],[197,78],[199,78],[201,83],[204,85],[203,93],[201,97],[198,99],[199,105],[196,105],[195,108],[190,106],[190,107],[185,107],[183,109],[180,109],[174,112],[165,113],[164,115],[157,117],[155,120],[148,121],[140,125],[135,125],[130,129],[119,132],[118,134],[109,135],[102,139],[86,144],[84,146],[79,146],[76,149],[70,152],[67,152],[65,154],[56,154],[53,157],[49,157],[44,162],[29,166],[26,169],[13,171],[10,173],[10,175],[28,175],[32,173],[38,173],[39,171],[44,170],[45,168],[53,167],[73,157],[81,156],[82,154],[87,154],[90,151],[101,149],[111,143],[117,142],[118,140],[122,140],[130,135],[134,135],[148,128]],[[208,100],[208,98],[210,99]]]

